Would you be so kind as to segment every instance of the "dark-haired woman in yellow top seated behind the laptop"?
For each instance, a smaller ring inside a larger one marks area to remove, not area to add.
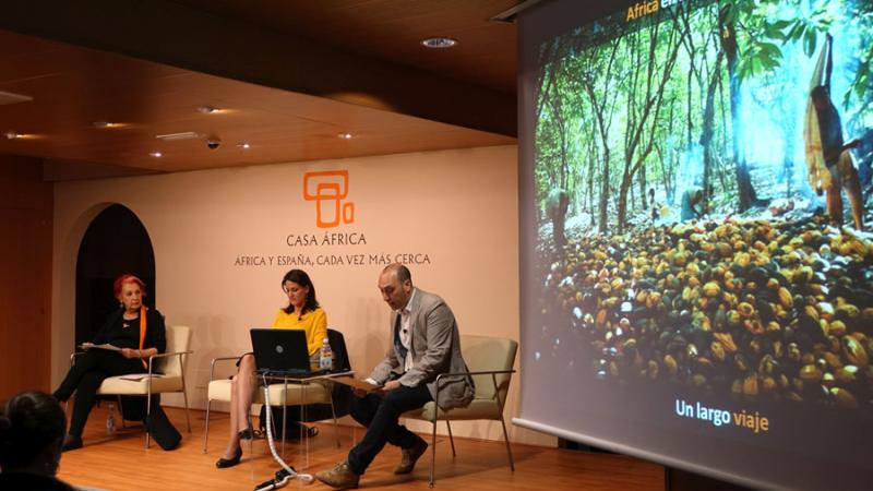
[[[279,309],[273,327],[280,330],[303,330],[311,360],[318,361],[319,349],[327,337],[327,315],[315,300],[315,287],[301,270],[291,270],[282,278],[282,289],[288,295],[288,307]],[[242,457],[240,440],[254,438],[249,412],[258,383],[254,376],[254,355],[243,355],[237,363],[239,371],[230,385],[230,440],[225,454],[215,466],[232,467]]]

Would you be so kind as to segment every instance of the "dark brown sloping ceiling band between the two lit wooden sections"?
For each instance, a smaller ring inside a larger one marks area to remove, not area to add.
[[[272,8],[282,2],[253,3]],[[331,17],[343,3],[284,2],[291,7],[318,5],[311,21]],[[355,3],[355,2],[351,2]],[[382,13],[391,12],[406,2],[367,2],[374,5],[362,22],[379,23]],[[488,5],[490,1],[468,2]],[[461,9],[466,2],[409,2],[415,9],[405,14],[409,25],[428,25],[428,19],[445,16],[446,5],[452,22],[458,25],[485,25],[475,8]],[[236,8],[248,2],[236,2]],[[455,7],[458,5],[458,7]],[[46,15],[51,12],[51,15]],[[271,10],[266,11],[267,13]],[[307,25],[294,11],[295,22]],[[417,27],[418,27],[417,26]],[[14,2],[0,15],[0,27],[24,35],[36,35],[59,41],[73,43],[137,59],[171,64],[178,68],[210,73],[237,81],[309,94],[336,101],[390,110],[407,116],[440,121],[464,128],[515,136],[516,110],[513,94],[475,83],[463,82],[455,72],[439,73],[424,59],[423,48],[416,46],[415,59],[394,61],[366,56],[356,51],[354,43],[336,47],[330,39],[312,40],[302,37],[292,25],[270,28],[251,21],[247,15],[222,14],[169,0],[27,0]],[[351,26],[354,27],[354,26]],[[393,25],[384,26],[396,31]],[[504,25],[512,32],[514,26]],[[337,32],[344,32],[339,28]],[[352,29],[354,31],[354,29]],[[480,29],[481,31],[481,29]],[[466,49],[476,46],[466,43]],[[390,50],[404,43],[390,43]],[[477,51],[479,60],[473,70],[488,72],[490,61],[505,49]],[[418,59],[420,58],[420,59]],[[441,57],[461,60],[461,51],[449,50]],[[432,67],[431,67],[432,68]]]

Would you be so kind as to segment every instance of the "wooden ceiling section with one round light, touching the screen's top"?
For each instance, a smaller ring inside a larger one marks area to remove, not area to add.
[[[489,19],[519,0],[177,0],[226,19],[242,19],[432,73],[515,94],[516,26]],[[451,50],[422,47],[433,36],[458,40]]]

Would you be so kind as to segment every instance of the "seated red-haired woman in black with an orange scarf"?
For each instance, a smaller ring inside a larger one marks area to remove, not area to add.
[[[59,402],[65,402],[75,393],[70,430],[63,439],[64,451],[82,447],[82,431],[104,379],[144,373],[148,369],[148,357],[164,352],[167,347],[164,315],[143,306],[143,280],[121,275],[112,291],[119,301],[118,310],[109,315],[93,343],[82,344],[84,355],[76,358],[52,394]],[[119,349],[101,349],[100,345]]]

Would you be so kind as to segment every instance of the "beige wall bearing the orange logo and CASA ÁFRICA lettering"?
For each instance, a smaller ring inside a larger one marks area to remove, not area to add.
[[[354,205],[354,223],[321,229],[315,203],[302,196],[303,175],[335,169],[349,172],[344,203]],[[346,263],[300,267],[312,277],[330,326],[344,332],[361,375],[388,346],[390,312],[375,286],[385,254],[391,261],[398,253],[427,254],[430,264],[409,265],[412,279],[445,298],[463,333],[517,339],[516,169],[516,147],[505,146],[58,183],[52,380],[62,376],[73,345],[70,287],[79,243],[111,203],[133,211],[152,238],[157,308],[168,323],[193,328],[193,407],[205,407],[210,360],[249,350],[249,327],[268,326],[287,303],[279,283],[292,266],[277,265],[279,256]],[[357,232],[367,243],[321,244],[325,231]],[[319,244],[289,246],[289,235],[311,235]],[[360,254],[363,265],[347,264]],[[240,256],[267,264],[238,265]],[[517,411],[517,381],[510,418]],[[165,402],[181,405],[180,398]],[[499,423],[467,423],[456,434],[493,439],[499,431]],[[554,442],[517,428],[511,432],[516,441]]]

